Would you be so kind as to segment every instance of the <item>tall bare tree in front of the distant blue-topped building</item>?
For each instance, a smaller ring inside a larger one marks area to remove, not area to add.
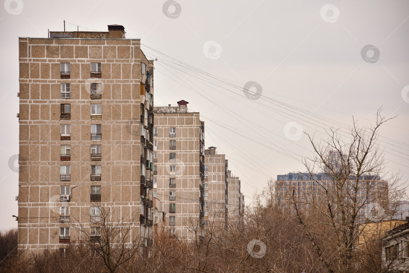
[[[388,196],[402,193],[397,176],[389,183],[380,179],[385,162],[376,142],[379,127],[388,120],[378,111],[373,128],[360,128],[353,121],[346,138],[333,128],[328,131],[328,140],[320,142],[308,134],[315,153],[304,160],[304,166],[312,181],[309,189],[317,188],[307,190],[302,197],[293,190],[292,203],[303,234],[328,272],[356,272],[362,264],[362,246],[355,242],[362,225],[369,222],[365,219],[385,219]]]

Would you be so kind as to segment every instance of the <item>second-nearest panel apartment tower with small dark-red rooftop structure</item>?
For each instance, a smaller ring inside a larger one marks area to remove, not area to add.
[[[162,200],[171,235],[193,239],[189,227],[203,221],[205,123],[188,112],[187,102],[154,107],[154,190]]]

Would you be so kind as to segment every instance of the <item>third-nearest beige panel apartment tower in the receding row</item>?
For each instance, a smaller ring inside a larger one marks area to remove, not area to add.
[[[228,161],[216,147],[205,150],[205,220],[227,221]]]

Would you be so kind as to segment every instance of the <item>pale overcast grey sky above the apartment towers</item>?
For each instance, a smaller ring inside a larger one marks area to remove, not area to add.
[[[398,115],[380,131],[387,167],[400,170],[403,181],[409,178],[408,1],[4,2],[0,229],[17,226],[12,214],[17,215],[18,195],[18,37],[47,37],[47,29],[63,30],[63,20],[80,30],[121,24],[128,38],[141,38],[237,86],[258,83],[250,90],[261,97],[246,97],[242,90],[198,81],[146,48],[148,57],[158,58],[155,104],[183,99],[200,112],[206,147],[227,155],[246,204],[269,177],[305,170],[300,160],[312,151],[301,131],[321,138],[330,123],[320,123],[323,118],[351,124],[352,115],[370,125],[381,106],[386,117]],[[293,112],[272,100],[293,106]],[[299,109],[322,117],[299,115]]]

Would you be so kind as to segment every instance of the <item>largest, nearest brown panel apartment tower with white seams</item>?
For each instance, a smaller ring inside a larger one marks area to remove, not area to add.
[[[108,207],[152,242],[153,62],[108,28],[19,38],[19,249],[97,239]]]

